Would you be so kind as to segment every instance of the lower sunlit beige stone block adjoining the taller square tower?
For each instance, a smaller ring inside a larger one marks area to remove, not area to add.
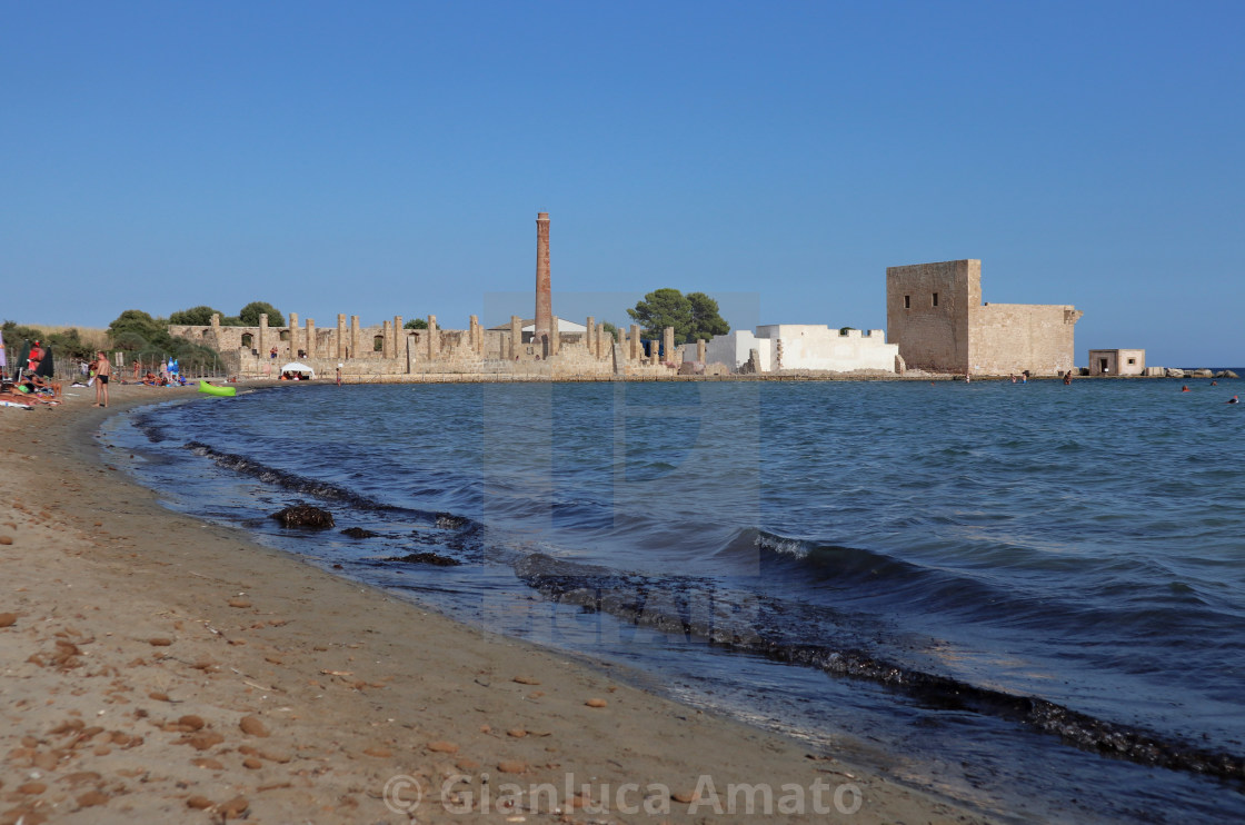
[[[1074,364],[1073,331],[1081,313],[1062,304],[986,304],[969,310],[969,363],[975,374],[1030,370],[1058,375]]]

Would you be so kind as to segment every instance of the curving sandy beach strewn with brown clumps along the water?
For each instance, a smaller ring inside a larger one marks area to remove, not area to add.
[[[0,824],[986,821],[169,512],[95,432],[193,390],[70,391],[0,411]]]

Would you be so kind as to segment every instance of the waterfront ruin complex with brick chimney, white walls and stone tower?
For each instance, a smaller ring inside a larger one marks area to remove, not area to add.
[[[641,338],[636,325],[610,335],[589,317],[583,325],[553,314],[549,214],[537,216],[535,318],[510,315],[486,329],[406,329],[395,315],[361,327],[341,314],[330,328],[290,313],[286,325],[260,315],[259,327],[169,327],[214,346],[232,374],[278,378],[298,361],[321,378],[350,381],[661,380],[769,375],[885,378],[904,374],[1057,375],[1073,369],[1073,329],[1082,313],[1067,304],[984,304],[981,262],[951,260],[886,269],[886,330],[825,324],[767,324],[710,341],[675,345]],[[1143,355],[1144,358],[1144,355]],[[1144,361],[1143,361],[1144,363]]]

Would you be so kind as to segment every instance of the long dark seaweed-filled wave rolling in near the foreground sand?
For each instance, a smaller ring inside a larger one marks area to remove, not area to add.
[[[603,612],[640,627],[697,638],[723,649],[786,664],[817,668],[829,675],[860,679],[905,693],[931,707],[967,710],[1025,724],[1062,742],[1140,765],[1245,780],[1245,758],[1195,748],[1135,725],[1117,724],[1033,695],[985,688],[936,673],[909,669],[859,647],[810,644],[764,629],[756,614],[741,621],[730,606],[697,611],[686,579],[657,581],[598,566],[533,553],[514,572],[545,598]]]

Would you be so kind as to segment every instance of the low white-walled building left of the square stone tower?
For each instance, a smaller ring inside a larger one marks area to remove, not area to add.
[[[705,345],[707,364],[725,364],[731,370],[743,366],[752,350],[757,350],[761,371],[824,370],[852,373],[855,370],[896,371],[899,344],[888,344],[886,333],[870,329],[848,329],[839,333],[825,324],[767,324],[756,334],[736,330],[716,335]]]

